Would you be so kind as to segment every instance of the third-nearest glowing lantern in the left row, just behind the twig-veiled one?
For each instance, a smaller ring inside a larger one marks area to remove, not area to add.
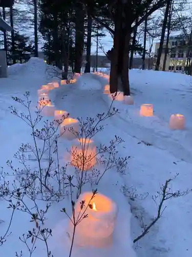
[[[77,138],[76,133],[79,132],[79,121],[73,118],[66,118],[59,125],[59,134],[60,136],[65,137],[68,140]]]

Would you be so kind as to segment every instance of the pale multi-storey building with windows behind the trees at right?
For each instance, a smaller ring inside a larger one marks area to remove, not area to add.
[[[156,54],[159,49],[159,44],[160,43],[156,43],[155,45]],[[160,60],[160,70],[162,70],[163,67],[163,61],[165,57],[165,46],[166,41],[164,41],[163,44],[163,52],[161,54]],[[165,70],[183,72],[186,69],[187,65],[188,50],[188,42],[185,39],[184,35],[170,36],[168,42],[168,54],[166,58]],[[188,64],[189,63],[190,60],[188,60]]]

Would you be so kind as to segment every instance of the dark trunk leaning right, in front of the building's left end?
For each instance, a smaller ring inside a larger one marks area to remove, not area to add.
[[[166,24],[167,24],[167,19],[168,19],[168,11],[169,11],[169,7],[170,7],[170,1],[171,0],[168,0],[167,4],[166,4],[163,26],[162,26],[162,30],[161,30],[161,40],[160,40],[159,49],[158,49],[158,53],[157,53],[157,62],[156,62],[155,70],[159,70],[159,65],[160,65],[160,61],[161,61],[161,54],[162,54],[162,51],[163,51],[163,43],[164,43],[165,30],[166,30]]]

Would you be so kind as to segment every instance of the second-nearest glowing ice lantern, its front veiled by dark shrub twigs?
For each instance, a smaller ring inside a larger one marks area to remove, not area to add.
[[[96,163],[96,146],[90,138],[78,139],[71,153],[71,164],[80,171],[90,170]]]

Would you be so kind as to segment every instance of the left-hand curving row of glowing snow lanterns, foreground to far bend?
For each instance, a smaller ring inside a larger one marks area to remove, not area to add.
[[[74,83],[74,82],[72,82]],[[65,85],[65,81],[61,81],[61,85]],[[79,121],[72,117],[69,117],[69,113],[63,110],[55,110],[54,105],[48,103],[49,97],[48,93],[50,90],[59,87],[57,82],[48,83],[45,86],[41,86],[41,89],[38,90],[39,101],[45,101],[45,106],[42,109],[42,114],[44,116],[54,117],[55,125],[58,125],[57,120],[59,121],[59,134],[60,136],[73,140],[75,135],[71,133],[79,131]],[[42,91],[43,90],[43,91]],[[48,103],[48,104],[47,104]],[[43,102],[40,104],[44,105]],[[74,140],[73,140],[74,142]],[[88,161],[84,164],[83,170],[89,172],[94,165],[96,164],[96,146],[94,141],[91,139],[78,139],[75,142],[75,145],[72,146],[72,153],[75,153],[75,158],[71,155],[71,163],[74,167],[82,171],[82,146],[84,149],[84,155],[88,156]],[[76,227],[75,233],[75,244],[79,246],[95,246],[95,247],[104,247],[112,243],[112,235],[115,227],[115,221],[117,216],[117,205],[116,203],[106,197],[103,194],[97,193],[92,199],[92,192],[85,192],[81,194],[75,204],[75,215],[78,215],[79,212],[83,213],[86,211],[88,214],[87,218],[84,218],[79,225]],[[90,201],[90,199],[92,199]],[[85,200],[85,204],[80,210],[80,202]],[[89,206],[87,208],[87,205]],[[87,209],[86,209],[87,208]],[[73,218],[73,217],[72,217]],[[75,217],[77,219],[78,217]],[[89,229],[88,229],[89,228]],[[73,224],[71,221],[68,226],[68,233],[70,237],[73,236]]]

